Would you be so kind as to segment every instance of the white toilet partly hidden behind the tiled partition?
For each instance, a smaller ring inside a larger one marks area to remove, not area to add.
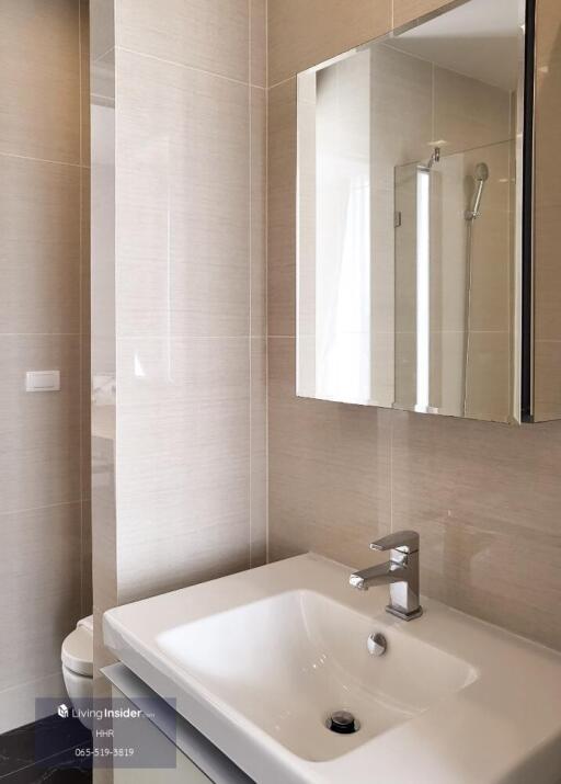
[[[92,706],[93,698],[93,615],[78,622],[76,629],[66,637],[60,651],[62,677],[70,702],[83,712]],[[88,716],[81,723],[92,728]]]

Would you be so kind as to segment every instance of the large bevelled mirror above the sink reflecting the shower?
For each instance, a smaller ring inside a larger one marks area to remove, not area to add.
[[[298,76],[298,395],[523,418],[526,13],[454,3]]]

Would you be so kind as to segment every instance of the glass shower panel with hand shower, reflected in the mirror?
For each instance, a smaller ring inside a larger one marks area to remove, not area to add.
[[[398,408],[508,419],[512,166],[505,141],[394,170]]]

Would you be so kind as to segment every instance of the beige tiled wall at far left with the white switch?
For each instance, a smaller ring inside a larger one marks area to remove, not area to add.
[[[87,11],[1,8],[0,732],[64,693],[60,645],[91,613]],[[51,368],[59,393],[24,391]]]

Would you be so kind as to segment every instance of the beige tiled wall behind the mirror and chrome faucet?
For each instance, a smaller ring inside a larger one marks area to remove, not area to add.
[[[442,4],[268,3],[270,555],[313,549],[366,566],[373,538],[413,527],[425,593],[561,648],[561,423],[508,428],[295,396],[294,76]],[[538,7],[545,53],[559,9]]]

